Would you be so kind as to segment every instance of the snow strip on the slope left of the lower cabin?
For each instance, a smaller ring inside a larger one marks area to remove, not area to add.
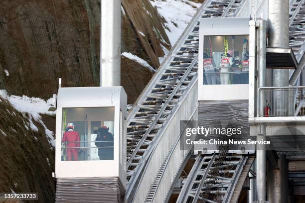
[[[48,136],[50,144],[55,146],[55,139],[53,137],[54,133],[45,126],[40,116],[40,114],[54,115],[56,113],[54,111],[49,111],[49,108],[54,106],[52,98],[45,101],[40,98],[29,98],[27,96],[8,96],[5,90],[0,90],[0,96],[7,99],[18,111],[22,113],[27,112],[29,114],[29,126],[32,130],[38,131],[38,128],[34,125],[33,120],[41,123],[41,125],[45,128],[45,133]],[[25,127],[27,128],[27,126]]]

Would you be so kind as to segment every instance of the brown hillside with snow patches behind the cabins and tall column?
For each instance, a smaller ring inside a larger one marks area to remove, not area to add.
[[[122,0],[129,103],[201,1]],[[100,0],[0,0],[0,192],[35,191],[39,202],[53,202],[55,116],[48,102],[31,97],[56,94],[59,77],[63,87],[98,86],[99,33]]]

